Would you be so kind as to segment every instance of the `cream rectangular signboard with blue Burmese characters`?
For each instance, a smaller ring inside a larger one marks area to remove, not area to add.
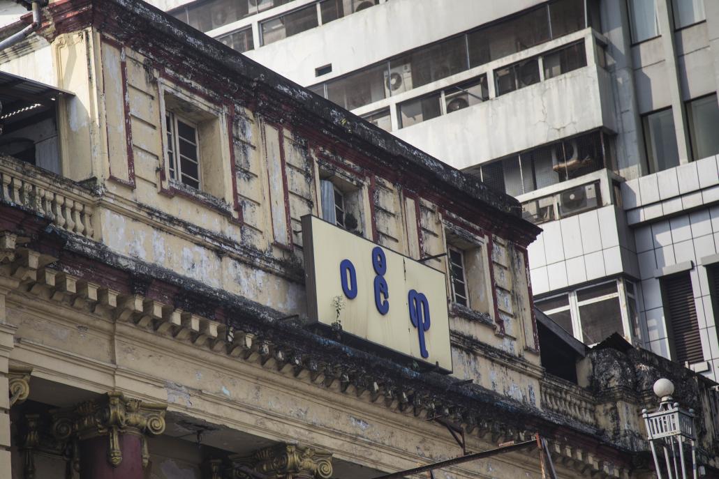
[[[302,235],[312,320],[452,371],[443,273],[314,216]]]

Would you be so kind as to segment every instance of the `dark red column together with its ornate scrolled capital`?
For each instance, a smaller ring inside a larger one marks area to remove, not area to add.
[[[80,479],[142,479],[150,460],[146,437],[165,431],[165,409],[110,392],[55,411],[52,432],[77,442]]]

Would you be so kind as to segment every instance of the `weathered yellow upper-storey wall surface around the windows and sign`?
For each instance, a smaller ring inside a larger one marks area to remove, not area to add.
[[[63,149],[63,162],[66,168],[73,169],[71,177],[81,179],[93,173],[105,179],[106,193],[95,214],[95,239],[123,256],[162,266],[280,312],[306,312],[303,279],[298,267],[302,246],[300,218],[320,211],[320,160],[313,154],[316,145],[308,144],[307,139],[293,134],[290,128],[272,124],[244,106],[213,98],[211,92],[203,98],[193,98],[193,93],[184,87],[183,79],[173,78],[171,72],[160,75],[138,52],[117,47],[101,39],[99,34],[73,34],[60,37],[57,42],[55,48],[61,65],[58,70],[63,75],[60,83],[77,93],[73,101],[67,102],[67,107],[75,103],[83,107],[73,107],[75,113],[70,116],[73,120],[63,126],[61,136],[67,145]],[[79,62],[79,57],[91,61]],[[87,65],[95,75],[88,74]],[[123,65],[127,73],[124,85]],[[92,92],[95,91],[102,92],[99,108],[93,107]],[[124,116],[124,94],[129,101],[127,123],[118,118]],[[206,154],[211,158],[201,158],[201,162],[214,164],[214,172],[205,176],[206,180],[212,180],[209,190],[216,195],[180,195],[173,192],[168,172],[162,180],[161,169],[167,168],[163,151],[163,111],[167,95],[195,101],[203,111],[214,112],[218,118],[219,126],[212,134],[217,135],[213,141],[219,144],[211,154]],[[232,131],[226,127],[229,116],[234,118]],[[127,125],[132,131],[134,187],[126,184],[132,178],[127,169],[127,145],[120,138]],[[93,133],[95,130],[100,133]],[[242,223],[238,222],[239,215],[234,210],[229,164],[232,156]],[[75,158],[83,160],[75,162]],[[347,159],[340,158],[340,161],[350,170],[357,169]],[[108,179],[110,168],[112,175],[122,182]],[[219,172],[224,173],[219,175]],[[360,180],[365,181],[367,179]],[[369,185],[361,183],[360,186],[363,211],[359,220],[365,236],[371,236],[370,203],[373,203],[378,234],[375,239],[383,246],[415,258],[446,250],[446,220],[437,205],[415,195],[405,195],[402,187],[382,177],[375,177],[374,186],[372,197],[368,193]],[[474,378],[500,394],[536,404],[533,391],[539,389],[538,373],[531,365],[539,364],[539,356],[528,353],[525,348],[527,336],[531,334],[526,266],[508,238],[494,237],[492,258],[481,256],[487,254],[488,239],[487,236],[481,239],[483,243],[478,250],[477,261],[483,267],[472,269],[485,274],[480,284],[475,285],[481,294],[474,294],[475,297],[483,295],[485,300],[475,303],[480,304],[482,312],[494,317],[491,294],[494,287],[505,334],[500,335],[496,327],[478,324],[466,317],[453,317],[452,328],[460,335],[523,361],[518,363],[521,366],[505,368],[485,361],[485,353],[480,350],[464,348],[454,352],[455,374],[460,378]],[[444,258],[427,264],[447,271]],[[490,267],[496,284],[487,287]]]

